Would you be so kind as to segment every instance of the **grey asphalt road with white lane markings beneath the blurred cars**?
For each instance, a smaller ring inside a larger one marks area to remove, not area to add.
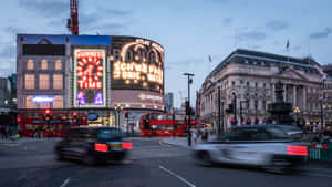
[[[186,148],[157,138],[134,138],[125,163],[89,167],[58,162],[54,142],[0,146],[0,187],[320,187],[332,186],[332,168],[311,164],[298,175],[274,175],[260,169],[195,165]]]

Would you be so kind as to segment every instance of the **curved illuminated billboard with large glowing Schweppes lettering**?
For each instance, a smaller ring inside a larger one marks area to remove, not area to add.
[[[164,94],[164,49],[132,37],[111,37],[112,90],[144,90]]]

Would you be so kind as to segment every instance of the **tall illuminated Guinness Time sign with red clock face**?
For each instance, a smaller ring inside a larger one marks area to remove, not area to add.
[[[74,50],[74,106],[106,106],[106,51]]]

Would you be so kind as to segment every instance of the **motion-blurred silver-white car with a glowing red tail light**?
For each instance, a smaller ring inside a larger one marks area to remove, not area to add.
[[[307,160],[308,146],[300,139],[301,131],[293,126],[239,126],[215,141],[196,145],[193,152],[201,165],[248,165],[284,173]]]

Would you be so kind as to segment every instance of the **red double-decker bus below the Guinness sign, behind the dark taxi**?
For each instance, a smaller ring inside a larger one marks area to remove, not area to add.
[[[50,118],[45,118],[45,115]],[[43,137],[61,137],[71,127],[87,126],[87,116],[77,112],[52,111],[45,114],[44,111],[22,111],[18,115],[18,125],[27,137],[33,137],[38,131]]]

